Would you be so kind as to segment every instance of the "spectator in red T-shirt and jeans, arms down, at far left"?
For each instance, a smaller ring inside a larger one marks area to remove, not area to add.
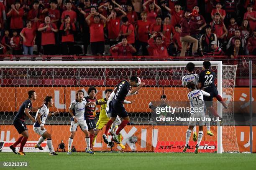
[[[33,55],[33,47],[36,43],[36,32],[32,28],[32,23],[30,20],[26,21],[26,28],[23,28],[20,32],[20,36],[23,38],[23,51],[24,55],[28,55],[28,52],[30,55]]]

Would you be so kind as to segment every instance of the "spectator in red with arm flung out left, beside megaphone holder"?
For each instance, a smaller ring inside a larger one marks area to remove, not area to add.
[[[180,5],[175,4],[175,6],[174,6],[175,10],[171,10],[165,4],[162,4],[162,6],[165,7],[165,9],[168,10],[169,13],[172,15],[171,25],[175,26],[175,25],[179,24],[180,21],[182,20],[182,16],[183,16],[183,13],[184,13],[183,10],[180,10]]]

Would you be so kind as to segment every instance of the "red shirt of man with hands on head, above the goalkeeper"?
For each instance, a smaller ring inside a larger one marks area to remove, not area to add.
[[[104,23],[102,21],[100,21],[100,23],[94,23],[94,21],[91,21],[89,26],[90,42],[104,41]]]

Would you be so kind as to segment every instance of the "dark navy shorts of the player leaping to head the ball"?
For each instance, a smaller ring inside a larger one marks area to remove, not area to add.
[[[116,100],[112,100],[110,116],[111,117],[117,117],[117,116],[128,117],[128,113],[126,112],[122,103]]]

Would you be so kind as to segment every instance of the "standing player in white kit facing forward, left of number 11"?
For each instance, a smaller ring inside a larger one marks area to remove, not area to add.
[[[92,104],[91,102],[86,102],[84,99],[84,92],[82,90],[78,90],[76,93],[76,100],[74,100],[69,106],[69,113],[72,116],[70,132],[71,135],[69,137],[69,145],[67,154],[72,154],[71,146],[73,143],[73,138],[75,132],[77,130],[77,126],[79,125],[82,131],[85,134],[85,141],[87,144],[87,148],[85,149],[86,153],[94,154],[94,152],[90,149],[90,137],[88,133],[87,123],[84,117],[84,109],[85,106]]]

